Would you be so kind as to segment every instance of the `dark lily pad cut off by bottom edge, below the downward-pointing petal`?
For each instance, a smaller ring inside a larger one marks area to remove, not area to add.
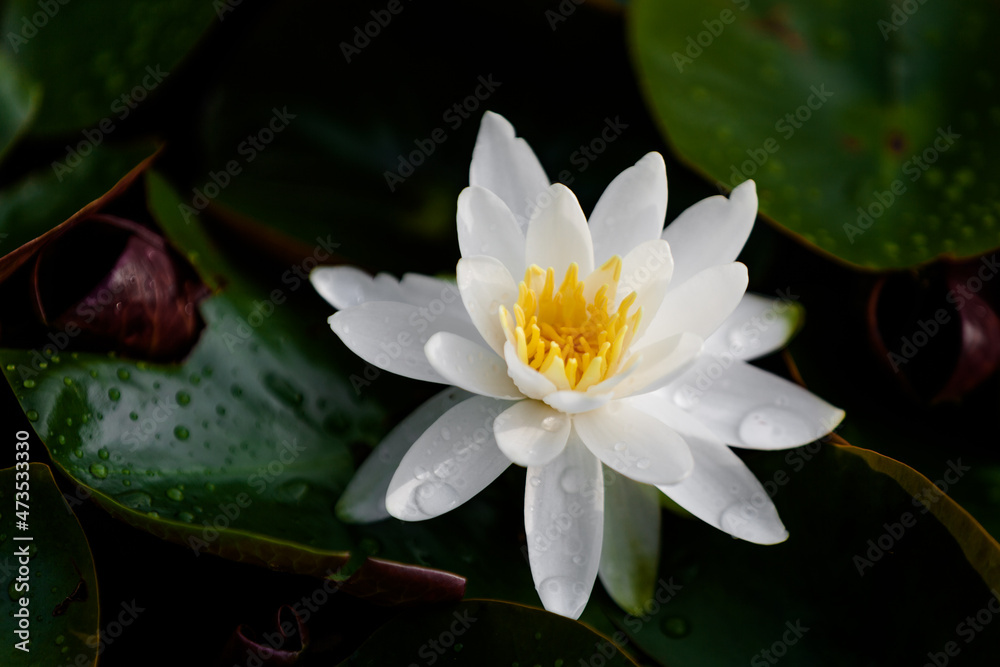
[[[384,665],[635,665],[610,639],[577,621],[495,600],[401,614],[344,667]]]

